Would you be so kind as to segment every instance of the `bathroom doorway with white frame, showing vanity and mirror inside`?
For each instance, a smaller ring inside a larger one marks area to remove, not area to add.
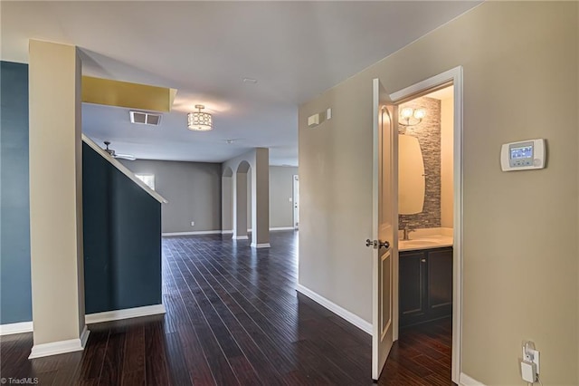
[[[448,381],[459,384],[461,78],[458,67],[391,94],[399,107],[394,339],[400,340],[399,347],[408,347],[409,343],[423,345],[420,336],[428,336],[441,355],[422,358],[423,363],[451,369]],[[402,349],[398,353],[404,355]]]

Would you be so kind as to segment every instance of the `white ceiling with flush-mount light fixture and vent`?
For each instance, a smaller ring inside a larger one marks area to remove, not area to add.
[[[85,75],[176,88],[157,128],[129,123],[127,109],[83,105],[85,134],[119,153],[222,162],[267,147],[272,165],[295,166],[299,103],[478,4],[3,1],[1,54],[27,63],[30,38],[71,43]],[[197,103],[214,130],[186,129]]]

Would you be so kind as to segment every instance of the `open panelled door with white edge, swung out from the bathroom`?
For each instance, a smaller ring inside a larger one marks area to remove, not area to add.
[[[374,80],[372,240],[372,378],[377,381],[394,343],[394,258],[398,253],[396,142],[398,109]]]

